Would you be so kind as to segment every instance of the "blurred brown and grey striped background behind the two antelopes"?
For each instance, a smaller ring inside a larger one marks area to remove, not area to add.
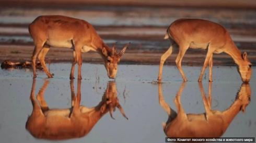
[[[120,64],[159,64],[160,56],[169,48],[164,40],[171,22],[179,18],[200,18],[220,23],[228,29],[241,52],[247,52],[255,63],[255,0],[1,0],[0,60],[30,61],[33,41],[28,25],[40,15],[64,15],[91,23],[102,40],[122,47],[131,42]],[[174,65],[177,53],[167,59]],[[188,50],[182,65],[202,65],[206,51]],[[70,49],[51,48],[46,60],[72,62]],[[83,62],[102,63],[95,53],[83,54]],[[225,54],[214,54],[214,65],[234,65]]]

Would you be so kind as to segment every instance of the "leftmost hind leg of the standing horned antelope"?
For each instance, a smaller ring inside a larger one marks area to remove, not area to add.
[[[44,42],[35,42],[34,51],[33,51],[33,54],[31,56],[32,68],[33,68],[33,78],[37,77],[37,73],[36,73],[36,58],[37,58],[39,52],[41,51],[43,45],[44,45]]]

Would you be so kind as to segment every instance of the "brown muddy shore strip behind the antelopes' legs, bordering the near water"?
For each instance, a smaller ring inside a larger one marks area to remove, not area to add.
[[[9,59],[11,62],[31,61],[33,52],[32,45],[0,45],[0,62]],[[127,65],[159,65],[160,57],[165,50],[161,51],[141,51],[127,49],[119,64]],[[250,53],[250,52],[248,52]],[[178,51],[173,51],[171,56],[167,58],[165,65],[176,65],[175,59]],[[182,59],[182,65],[202,66],[205,60],[206,51],[204,50],[188,50]],[[96,52],[83,53],[83,63],[102,64],[102,58]],[[248,54],[251,63],[256,64],[255,54]],[[38,59],[37,59],[38,60]],[[73,61],[73,53],[70,49],[51,47],[45,56],[45,61],[51,63],[71,63]],[[227,54],[214,54],[214,66],[235,66],[233,59]]]

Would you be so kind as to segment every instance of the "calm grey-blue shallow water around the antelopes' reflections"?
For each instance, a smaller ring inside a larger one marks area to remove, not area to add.
[[[99,77],[97,82],[96,67]],[[50,84],[44,92],[44,99],[50,109],[71,106],[70,69],[71,64],[67,63],[50,65],[54,78],[47,79]],[[181,104],[186,113],[204,113],[203,100],[197,82],[201,67],[183,66],[183,70],[189,81],[181,94]],[[44,84],[43,79],[46,78],[43,72],[38,71],[37,74],[35,94],[39,92]],[[59,142],[164,142],[166,135],[161,123],[167,121],[168,115],[159,104],[158,85],[150,83],[157,79],[157,75],[158,66],[120,65],[118,77],[115,80],[117,97],[129,120],[116,110],[113,112],[115,120],[109,113],[105,114],[87,136]],[[88,107],[96,106],[101,101],[108,81],[112,79],[107,77],[103,65],[86,63],[82,65],[82,77],[81,104]],[[77,69],[75,69],[75,78],[77,78]],[[2,69],[0,79],[1,142],[49,142],[34,138],[25,128],[27,117],[32,112],[32,104],[29,100],[33,81],[32,70]],[[162,82],[165,82],[162,84],[162,95],[169,106],[177,111],[173,99],[182,84],[178,69],[174,66],[164,66],[162,79]],[[234,102],[242,81],[236,67],[216,66],[213,67],[213,80],[212,110],[224,111]],[[207,97],[208,68],[202,84]],[[237,114],[222,137],[256,136],[256,115],[254,114],[256,89],[253,88],[255,86],[256,76],[253,74],[250,81],[251,102],[245,114],[241,112]],[[76,79],[74,89],[76,93]]]

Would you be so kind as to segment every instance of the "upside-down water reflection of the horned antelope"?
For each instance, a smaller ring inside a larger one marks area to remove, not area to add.
[[[26,129],[30,134],[36,138],[42,139],[70,139],[79,138],[87,135],[92,127],[100,120],[100,118],[109,112],[109,109],[115,109],[118,107],[125,118],[127,118],[123,112],[121,105],[117,98],[117,89],[114,81],[108,83],[106,92],[102,96],[100,103],[93,107],[87,108],[80,105],[81,92],[80,80],[77,81],[77,97],[74,93],[73,84],[71,81],[71,93],[72,93],[72,108],[69,109],[49,109],[48,105],[44,101],[44,90],[49,84],[49,81],[45,81],[43,87],[38,93],[37,100],[34,97],[34,87],[36,80],[33,80],[33,86],[31,90],[31,102],[33,105],[33,111],[28,117],[26,123]],[[111,117],[112,117],[112,112]],[[127,118],[128,119],[128,118]]]

